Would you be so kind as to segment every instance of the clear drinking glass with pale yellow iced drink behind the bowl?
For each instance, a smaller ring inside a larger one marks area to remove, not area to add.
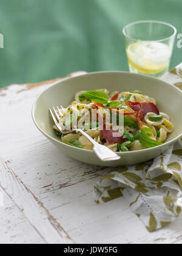
[[[136,21],[123,29],[129,71],[161,78],[168,70],[177,29],[162,21]]]

